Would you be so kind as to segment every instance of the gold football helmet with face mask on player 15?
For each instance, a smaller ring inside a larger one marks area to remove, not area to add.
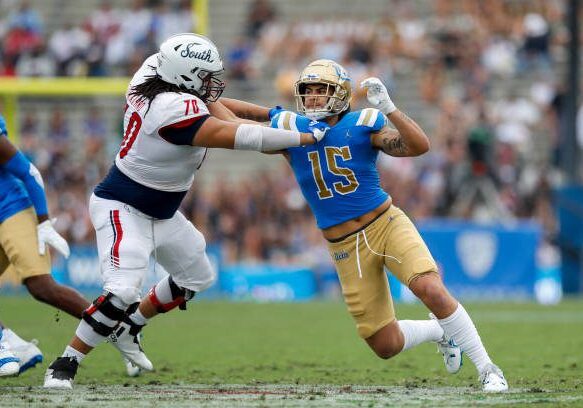
[[[328,103],[321,109],[306,108],[306,86],[309,84],[323,84],[332,92]],[[327,116],[338,115],[350,107],[352,89],[350,78],[342,65],[332,60],[320,59],[308,64],[300,74],[300,78],[294,85],[294,96],[298,112],[301,112],[312,120],[321,120]]]

